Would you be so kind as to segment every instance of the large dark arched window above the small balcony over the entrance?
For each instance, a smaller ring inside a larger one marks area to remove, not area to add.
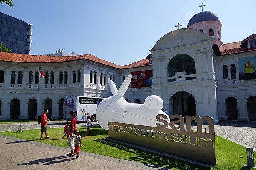
[[[168,64],[168,77],[175,76],[176,72],[186,71],[186,74],[195,74],[195,61],[187,54],[173,57]]]

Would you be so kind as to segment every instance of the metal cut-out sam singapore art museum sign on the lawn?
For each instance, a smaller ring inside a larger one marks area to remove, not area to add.
[[[214,121],[206,116],[172,115],[168,123],[166,115],[157,115],[156,127],[108,122],[108,138],[159,150],[206,164],[216,164]],[[191,130],[191,122],[197,122],[197,131]],[[202,122],[208,122],[209,133],[202,132]],[[175,124],[179,124],[178,126]]]

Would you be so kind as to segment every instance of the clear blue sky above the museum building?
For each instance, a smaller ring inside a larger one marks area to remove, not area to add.
[[[204,11],[218,15],[224,43],[256,33],[256,0],[13,0],[0,11],[33,25],[31,54],[93,54],[118,65],[144,59],[179,22]]]

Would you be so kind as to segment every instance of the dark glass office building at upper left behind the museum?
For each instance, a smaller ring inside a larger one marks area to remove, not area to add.
[[[13,53],[30,54],[32,24],[0,12],[0,43]]]

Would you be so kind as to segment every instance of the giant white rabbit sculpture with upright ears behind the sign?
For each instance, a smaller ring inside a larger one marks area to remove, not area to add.
[[[126,77],[117,91],[115,83],[110,80],[109,86],[113,96],[100,102],[96,110],[96,119],[102,128],[108,129],[108,121],[156,127],[156,123],[158,122],[156,116],[158,114],[167,116],[161,110],[163,108],[163,100],[159,96],[148,96],[145,99],[145,104],[126,102],[123,96],[130,82],[131,74]],[[166,121],[170,122],[169,116],[167,116]],[[161,122],[158,123],[163,125]]]

